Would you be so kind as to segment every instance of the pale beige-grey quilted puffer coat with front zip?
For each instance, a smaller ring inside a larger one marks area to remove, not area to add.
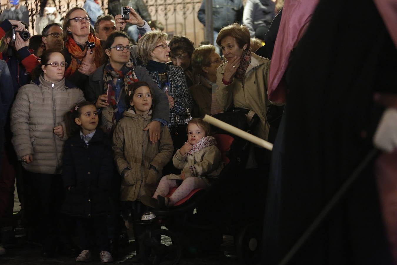
[[[18,159],[33,155],[33,162],[23,163],[29,172],[61,172],[63,141],[67,139],[64,114],[85,100],[83,91],[68,86],[65,78],[51,83],[40,76],[18,90],[11,109],[12,144]],[[64,128],[64,139],[54,134],[58,125]]]

